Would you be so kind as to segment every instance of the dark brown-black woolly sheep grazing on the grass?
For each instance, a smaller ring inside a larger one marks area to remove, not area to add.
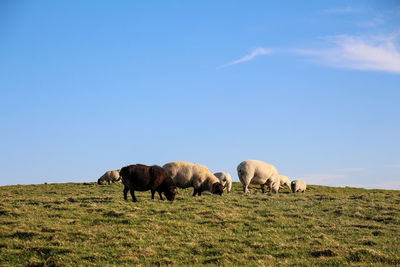
[[[157,191],[160,199],[164,200],[162,193],[169,201],[175,199],[177,194],[176,185],[168,176],[167,172],[160,166],[146,166],[143,164],[129,165],[123,167],[120,171],[122,183],[124,184],[124,199],[128,199],[128,191],[131,192],[132,201],[136,202],[136,191],[151,190],[151,199],[154,199],[154,193]]]

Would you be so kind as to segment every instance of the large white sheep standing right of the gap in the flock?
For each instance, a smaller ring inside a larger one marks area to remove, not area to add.
[[[250,193],[249,184],[261,185],[263,193],[265,185],[270,188],[270,192],[279,191],[278,171],[271,164],[259,160],[245,160],[238,165],[237,171],[245,193]]]

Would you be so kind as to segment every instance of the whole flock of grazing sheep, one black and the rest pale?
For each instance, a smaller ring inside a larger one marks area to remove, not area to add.
[[[305,192],[306,183],[303,180],[290,181],[285,175],[280,175],[277,169],[268,163],[259,160],[245,160],[237,166],[240,182],[243,184],[243,191],[249,193],[250,184],[260,185],[265,192],[265,186],[269,192],[278,193],[281,188],[287,186],[293,193]],[[174,161],[165,164],[163,167],[157,165],[146,166],[135,164],[123,167],[119,170],[107,171],[98,179],[98,184],[105,182],[122,181],[124,184],[124,198],[127,199],[127,192],[130,191],[132,200],[136,201],[134,191],[151,190],[152,198],[156,191],[162,198],[162,193],[168,200],[173,200],[177,193],[177,187],[193,187],[193,196],[199,196],[203,191],[213,194],[227,193],[232,189],[232,178],[229,173],[211,173],[203,165],[186,161]]]

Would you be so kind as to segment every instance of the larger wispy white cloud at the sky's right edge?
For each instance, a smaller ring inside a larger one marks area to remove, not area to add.
[[[330,48],[295,52],[337,68],[400,73],[398,37],[398,33],[380,38],[338,35],[325,38]]]

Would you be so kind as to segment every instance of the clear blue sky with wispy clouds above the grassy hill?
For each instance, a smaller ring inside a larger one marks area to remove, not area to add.
[[[0,185],[246,159],[400,189],[396,1],[1,1]]]

